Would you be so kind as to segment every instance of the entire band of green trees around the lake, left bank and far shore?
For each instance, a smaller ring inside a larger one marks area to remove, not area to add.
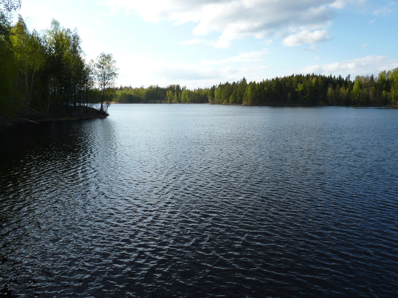
[[[117,103],[396,106],[398,68],[351,80],[292,74],[189,90],[181,85],[115,86],[112,54],[86,61],[77,29],[53,19],[50,29],[29,32],[14,14],[21,0],[0,0],[0,126],[16,121],[100,118]],[[86,108],[83,108],[86,106]],[[91,109],[90,109],[91,107]],[[96,112],[93,108],[96,108]]]

